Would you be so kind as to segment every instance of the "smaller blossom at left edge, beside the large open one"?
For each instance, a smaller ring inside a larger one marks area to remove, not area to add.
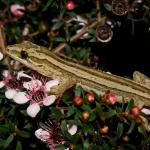
[[[3,80],[0,81],[0,88],[6,87],[5,96],[8,99],[13,99],[14,96],[22,88],[23,80],[17,79],[15,76],[12,76],[8,70],[4,70]]]

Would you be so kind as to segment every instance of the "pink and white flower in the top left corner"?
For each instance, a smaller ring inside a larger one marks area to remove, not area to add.
[[[13,4],[10,6],[10,11],[11,13],[16,16],[16,17],[21,17],[24,15],[24,11],[25,10],[25,7],[24,6],[21,6],[19,4]]]

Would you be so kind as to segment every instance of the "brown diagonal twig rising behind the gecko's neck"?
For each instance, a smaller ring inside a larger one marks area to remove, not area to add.
[[[85,34],[89,28],[94,28],[96,27],[98,21],[94,21],[91,24],[84,26],[81,31],[79,33],[76,33],[74,36],[71,37],[70,39],[70,43],[75,42],[76,40],[78,40],[83,34]],[[67,46],[67,43],[62,43],[60,44],[58,47],[56,47],[55,49],[52,50],[53,53],[59,53],[60,51],[62,51],[65,47]]]

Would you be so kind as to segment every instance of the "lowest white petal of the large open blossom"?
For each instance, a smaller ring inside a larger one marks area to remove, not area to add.
[[[36,117],[39,111],[40,111],[40,106],[37,103],[31,104],[27,108],[27,114],[33,118]]]

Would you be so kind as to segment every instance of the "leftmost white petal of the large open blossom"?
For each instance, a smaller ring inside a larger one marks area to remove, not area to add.
[[[29,101],[29,99],[26,97],[26,93],[25,92],[18,92],[14,97],[13,100],[17,103],[17,104],[25,104],[26,102]]]

